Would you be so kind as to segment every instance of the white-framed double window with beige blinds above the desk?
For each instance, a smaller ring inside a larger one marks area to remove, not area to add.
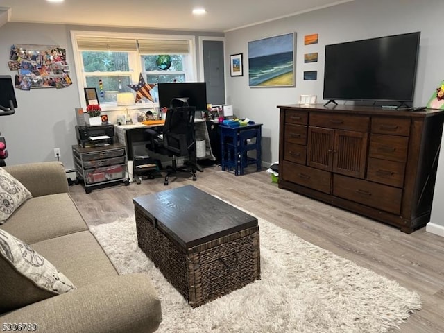
[[[140,74],[153,84],[196,80],[192,36],[72,31],[71,39],[80,96],[84,87],[95,87],[105,110],[119,92],[134,92],[128,85],[139,83]],[[157,87],[151,94],[157,102]]]

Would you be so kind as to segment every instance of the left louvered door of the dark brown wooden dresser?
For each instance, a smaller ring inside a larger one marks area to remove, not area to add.
[[[332,171],[334,130],[309,126],[307,165],[316,169]]]

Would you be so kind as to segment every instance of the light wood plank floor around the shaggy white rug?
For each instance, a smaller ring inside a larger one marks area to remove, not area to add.
[[[162,178],[156,178],[91,194],[85,194],[81,185],[70,187],[70,191],[87,223],[97,225],[133,215],[132,199],[136,196],[194,185],[417,291],[422,309],[395,332],[444,332],[444,238],[425,232],[425,228],[404,234],[389,225],[279,189],[265,171],[236,177],[213,166],[197,176],[196,182],[185,174],[171,178],[167,187]]]

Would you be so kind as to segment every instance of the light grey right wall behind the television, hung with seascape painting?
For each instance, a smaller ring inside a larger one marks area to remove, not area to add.
[[[279,112],[277,105],[298,103],[300,94],[323,99],[323,63],[326,44],[384,35],[421,31],[420,56],[413,105],[426,105],[438,83],[444,79],[442,15],[443,0],[355,0],[338,6],[287,17],[274,22],[230,31],[225,34],[225,58],[244,53],[244,76],[227,77],[227,103],[241,118],[264,123],[262,131],[265,162],[279,159]],[[248,42],[264,37],[297,33],[296,87],[248,87]],[[319,34],[318,44],[304,45],[305,35]],[[318,62],[304,64],[304,53],[318,52]],[[227,60],[228,64],[228,60]],[[303,72],[317,70],[318,80],[304,81]],[[344,103],[344,102],[340,102]],[[443,155],[443,153],[441,153]],[[444,228],[444,157],[441,156],[432,221]],[[443,179],[441,179],[443,178]],[[444,232],[443,232],[444,235]]]

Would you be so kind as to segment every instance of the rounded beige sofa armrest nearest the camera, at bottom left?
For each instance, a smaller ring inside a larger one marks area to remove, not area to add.
[[[154,332],[162,321],[157,292],[144,274],[96,282],[9,312],[3,323],[36,323],[42,333]]]

